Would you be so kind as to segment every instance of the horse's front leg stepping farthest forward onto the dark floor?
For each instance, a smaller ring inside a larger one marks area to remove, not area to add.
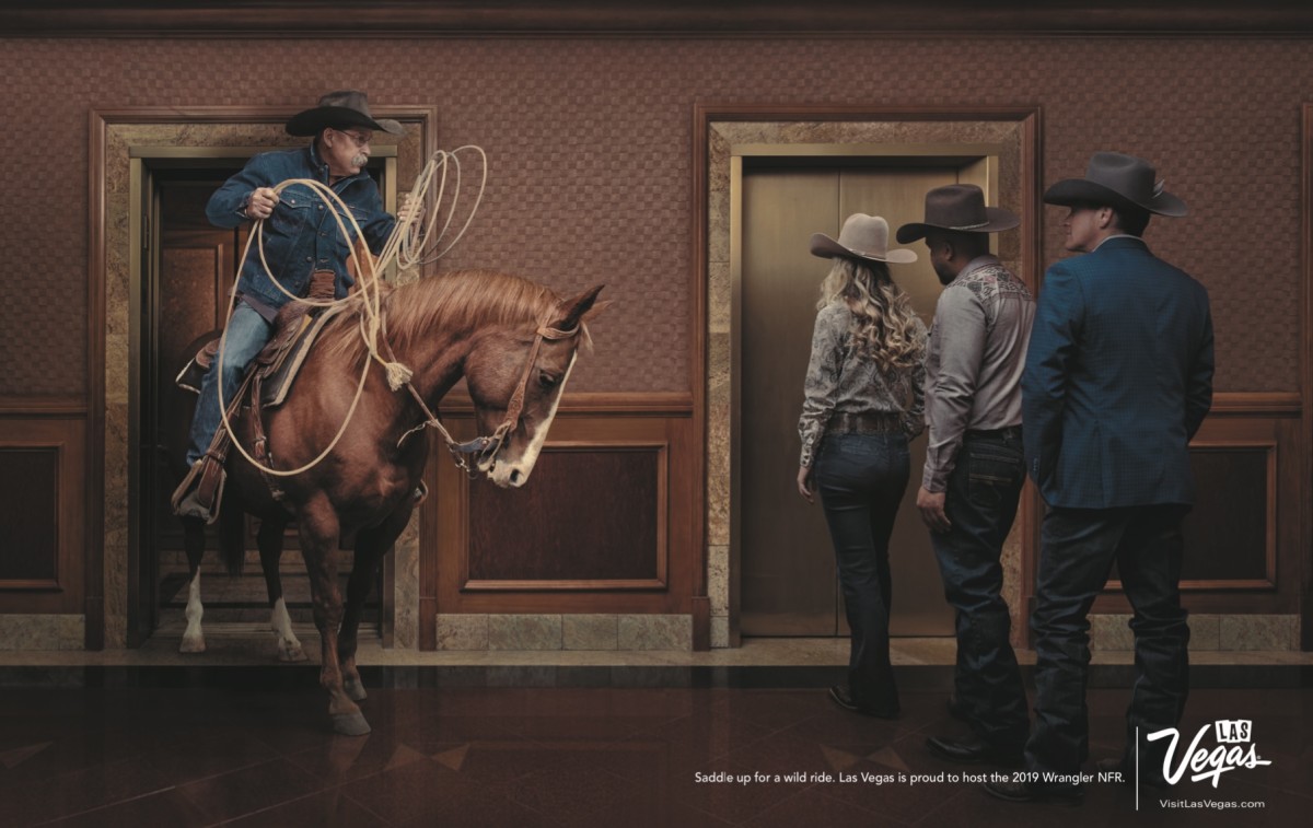
[[[335,554],[341,537],[337,513],[323,493],[301,508],[297,514],[301,531],[301,555],[310,575],[310,594],[315,608],[315,626],[319,627],[322,663],[319,684],[328,692],[328,715],[332,727],[344,736],[364,736],[369,723],[341,686],[341,667],[337,663],[337,629],[341,626],[341,593],[337,589],[337,563]]]

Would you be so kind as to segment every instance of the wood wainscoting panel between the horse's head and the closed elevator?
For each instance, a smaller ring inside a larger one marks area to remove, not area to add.
[[[520,489],[467,479],[433,436],[421,648],[436,647],[439,613],[692,613],[702,483],[691,403],[633,398],[563,403]],[[474,436],[466,405],[444,409],[457,440]]]

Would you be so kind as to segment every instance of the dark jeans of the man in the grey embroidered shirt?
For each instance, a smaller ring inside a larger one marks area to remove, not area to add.
[[[1020,751],[1029,735],[1025,688],[1008,636],[1003,541],[1025,483],[1022,430],[968,432],[948,475],[947,533],[931,533],[944,597],[956,615],[955,695],[985,743]]]

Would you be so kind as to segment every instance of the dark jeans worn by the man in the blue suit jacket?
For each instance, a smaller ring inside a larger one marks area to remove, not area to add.
[[[1141,778],[1161,781],[1165,741],[1153,731],[1175,727],[1190,693],[1190,626],[1180,606],[1180,522],[1188,507],[1119,509],[1050,508],[1044,516],[1036,579],[1035,731],[1027,770],[1074,773],[1088,758],[1085,702],[1090,664],[1090,606],[1113,560],[1134,618],[1134,685],[1127,710],[1127,756],[1140,727]]]

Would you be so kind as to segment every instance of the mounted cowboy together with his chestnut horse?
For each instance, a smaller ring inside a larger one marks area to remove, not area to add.
[[[205,650],[200,564],[205,524],[222,499],[228,504],[225,525],[236,526],[242,513],[260,521],[260,563],[278,653],[285,660],[303,657],[278,584],[282,534],[294,521],[319,631],[319,682],[328,693],[335,732],[351,736],[369,732],[358,705],[366,693],[356,667],[365,596],[382,556],[424,495],[429,428],[471,476],[502,487],[524,486],[579,346],[591,341],[587,323],[609,304],[596,300],[601,285],[562,298],[542,285],[491,270],[444,273],[382,291],[368,278],[374,262],[365,261],[362,290],[339,304],[340,312],[322,314],[314,348],[303,358],[297,352],[295,387],[274,405],[257,399],[247,416],[228,419],[232,445],[240,450],[225,458],[226,436],[211,438],[222,421],[219,398],[227,404],[239,396],[246,365],[270,358],[259,352],[272,335],[277,342],[285,339],[284,328],[274,329],[270,319],[281,325],[290,312],[302,310],[305,303],[293,299],[306,291],[310,300],[323,304],[345,297],[353,283],[345,266],[352,248],[339,219],[358,224],[362,239],[351,244],[364,240],[382,252],[385,264],[398,249],[393,228],[407,226],[411,215],[419,223],[419,198],[414,210],[403,206],[402,217],[393,219],[362,172],[376,129],[393,133],[400,127],[370,117],[360,92],[327,94],[319,106],[288,122],[294,135],[315,135],[310,147],[256,156],[210,199],[211,222],[235,227],[243,219],[264,219],[263,235],[269,240],[267,253],[252,256],[242,268],[240,299],[218,357],[222,370],[211,366],[202,381],[188,455],[192,470],[175,493],[190,572],[188,629],[180,651]],[[437,156],[429,165],[436,163]],[[427,180],[427,172],[420,180]],[[423,193],[424,185],[416,184],[415,190]],[[349,217],[330,217],[334,207],[326,199],[334,196],[345,202]],[[423,248],[423,234],[418,244]],[[362,257],[352,255],[356,259]],[[462,379],[481,436],[458,444],[435,411]],[[259,457],[242,446],[251,446]],[[274,476],[277,484],[270,480]],[[240,531],[228,534],[232,571],[244,549]],[[353,550],[345,600],[337,579],[343,549]]]

